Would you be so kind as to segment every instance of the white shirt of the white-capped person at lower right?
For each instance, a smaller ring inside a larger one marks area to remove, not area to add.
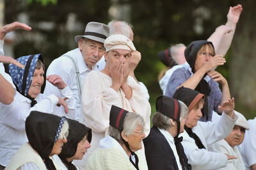
[[[211,146],[209,146],[209,150],[220,152],[220,153],[226,153],[228,155],[237,157],[237,158],[228,160],[227,166],[222,167],[218,170],[245,170],[243,158],[237,146],[232,148],[227,143],[227,141],[225,141],[225,139],[222,139],[221,141],[218,141],[217,143],[214,143]]]

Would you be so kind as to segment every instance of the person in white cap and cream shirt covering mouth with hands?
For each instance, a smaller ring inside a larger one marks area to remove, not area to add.
[[[145,121],[145,134],[150,130],[150,104],[140,85],[129,76],[131,52],[136,50],[124,35],[111,35],[105,42],[106,66],[101,72],[88,73],[83,86],[82,107],[86,126],[92,128],[92,147],[108,135],[111,105],[136,112]]]

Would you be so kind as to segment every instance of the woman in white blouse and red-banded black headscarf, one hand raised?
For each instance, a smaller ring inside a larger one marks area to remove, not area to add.
[[[202,117],[204,95],[189,88],[177,89],[173,98],[184,102],[188,106],[188,120],[183,137],[182,146],[192,169],[219,169],[227,165],[230,155],[208,151],[208,146],[227,137],[236,123],[234,114],[234,98],[223,102],[219,107],[223,110],[217,122],[198,121]]]

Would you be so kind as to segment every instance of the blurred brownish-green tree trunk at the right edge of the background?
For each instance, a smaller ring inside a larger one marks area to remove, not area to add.
[[[230,88],[236,110],[252,118],[256,109],[256,1],[243,1],[243,13],[230,56]],[[250,116],[249,116],[250,115]]]

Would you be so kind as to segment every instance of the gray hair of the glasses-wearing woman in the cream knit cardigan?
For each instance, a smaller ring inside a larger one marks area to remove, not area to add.
[[[139,114],[128,112],[124,118],[123,132],[125,135],[131,135],[137,127],[144,127],[144,125],[144,120]],[[119,143],[123,143],[121,132],[117,128],[109,126],[109,135]]]

